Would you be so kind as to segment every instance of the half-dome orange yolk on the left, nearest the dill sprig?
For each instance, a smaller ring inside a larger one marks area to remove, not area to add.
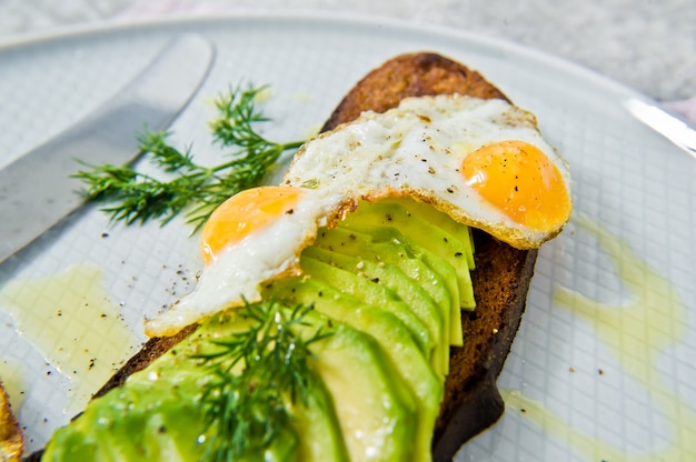
[[[260,187],[222,202],[202,229],[200,253],[206,264],[227,245],[261,230],[284,213],[292,213],[302,191],[294,187]]]

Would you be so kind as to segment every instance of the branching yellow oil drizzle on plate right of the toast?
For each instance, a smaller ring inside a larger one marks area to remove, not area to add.
[[[599,248],[614,262],[617,275],[632,298],[624,304],[600,303],[577,291],[557,285],[553,291],[556,305],[569,310],[594,327],[597,338],[609,351],[623,372],[635,380],[648,394],[652,403],[664,413],[669,445],[649,453],[625,451],[591,434],[573,428],[544,403],[517,390],[503,390],[509,410],[524,414],[545,432],[568,443],[587,460],[603,461],[676,461],[696,455],[696,413],[657,370],[659,354],[684,340],[686,304],[677,289],[656,269],[640,260],[628,243],[620,241],[585,215],[576,223],[595,234]],[[692,449],[689,449],[692,448]]]

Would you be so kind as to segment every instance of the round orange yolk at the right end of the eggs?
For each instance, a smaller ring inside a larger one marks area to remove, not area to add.
[[[570,197],[558,168],[524,141],[487,144],[469,153],[461,173],[469,187],[516,223],[551,231],[570,215]]]

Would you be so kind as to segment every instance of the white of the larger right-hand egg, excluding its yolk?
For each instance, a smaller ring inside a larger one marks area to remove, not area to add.
[[[514,247],[538,248],[565,223],[550,231],[517,223],[468,188],[460,172],[467,154],[508,140],[538,148],[569,185],[566,162],[544,140],[531,113],[505,100],[460,96],[410,98],[385,113],[362,113],[305,144],[284,184],[354,201],[411,195]]]

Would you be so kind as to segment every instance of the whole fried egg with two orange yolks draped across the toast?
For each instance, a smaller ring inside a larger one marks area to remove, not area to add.
[[[197,288],[146,323],[171,334],[260,300],[264,282],[299,272],[320,227],[360,201],[411,197],[518,249],[538,248],[571,212],[568,167],[535,117],[505,100],[405,99],[309,140],[281,185],[229,199],[202,231]]]

